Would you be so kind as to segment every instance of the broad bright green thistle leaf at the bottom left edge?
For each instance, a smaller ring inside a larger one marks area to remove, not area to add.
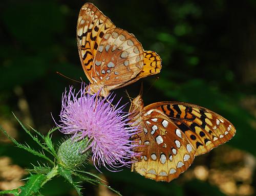
[[[33,195],[39,191],[41,188],[41,184],[47,180],[45,175],[37,174],[31,175],[29,181],[24,185],[19,187],[22,191],[20,192],[20,196],[28,196]]]

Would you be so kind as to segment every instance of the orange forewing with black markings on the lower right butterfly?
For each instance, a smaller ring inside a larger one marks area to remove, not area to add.
[[[230,140],[236,129],[222,116],[198,105],[158,102],[146,106],[162,111],[185,134],[196,156]]]

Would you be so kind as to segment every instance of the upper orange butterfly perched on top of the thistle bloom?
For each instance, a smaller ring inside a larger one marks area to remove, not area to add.
[[[160,72],[161,58],[144,51],[133,34],[117,28],[93,4],[82,6],[77,21],[77,46],[90,93],[106,97],[140,78]]]

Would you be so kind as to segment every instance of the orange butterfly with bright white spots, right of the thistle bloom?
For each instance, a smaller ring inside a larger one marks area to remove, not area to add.
[[[230,140],[234,126],[222,116],[197,105],[158,102],[143,106],[141,95],[130,107],[132,126],[142,130],[133,139],[141,152],[132,164],[145,178],[170,182],[184,172],[195,156]]]

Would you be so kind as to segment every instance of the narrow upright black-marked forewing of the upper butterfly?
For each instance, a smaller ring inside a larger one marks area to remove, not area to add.
[[[82,6],[77,20],[77,46],[84,73],[91,83],[93,60],[103,36],[115,25],[93,4]]]

